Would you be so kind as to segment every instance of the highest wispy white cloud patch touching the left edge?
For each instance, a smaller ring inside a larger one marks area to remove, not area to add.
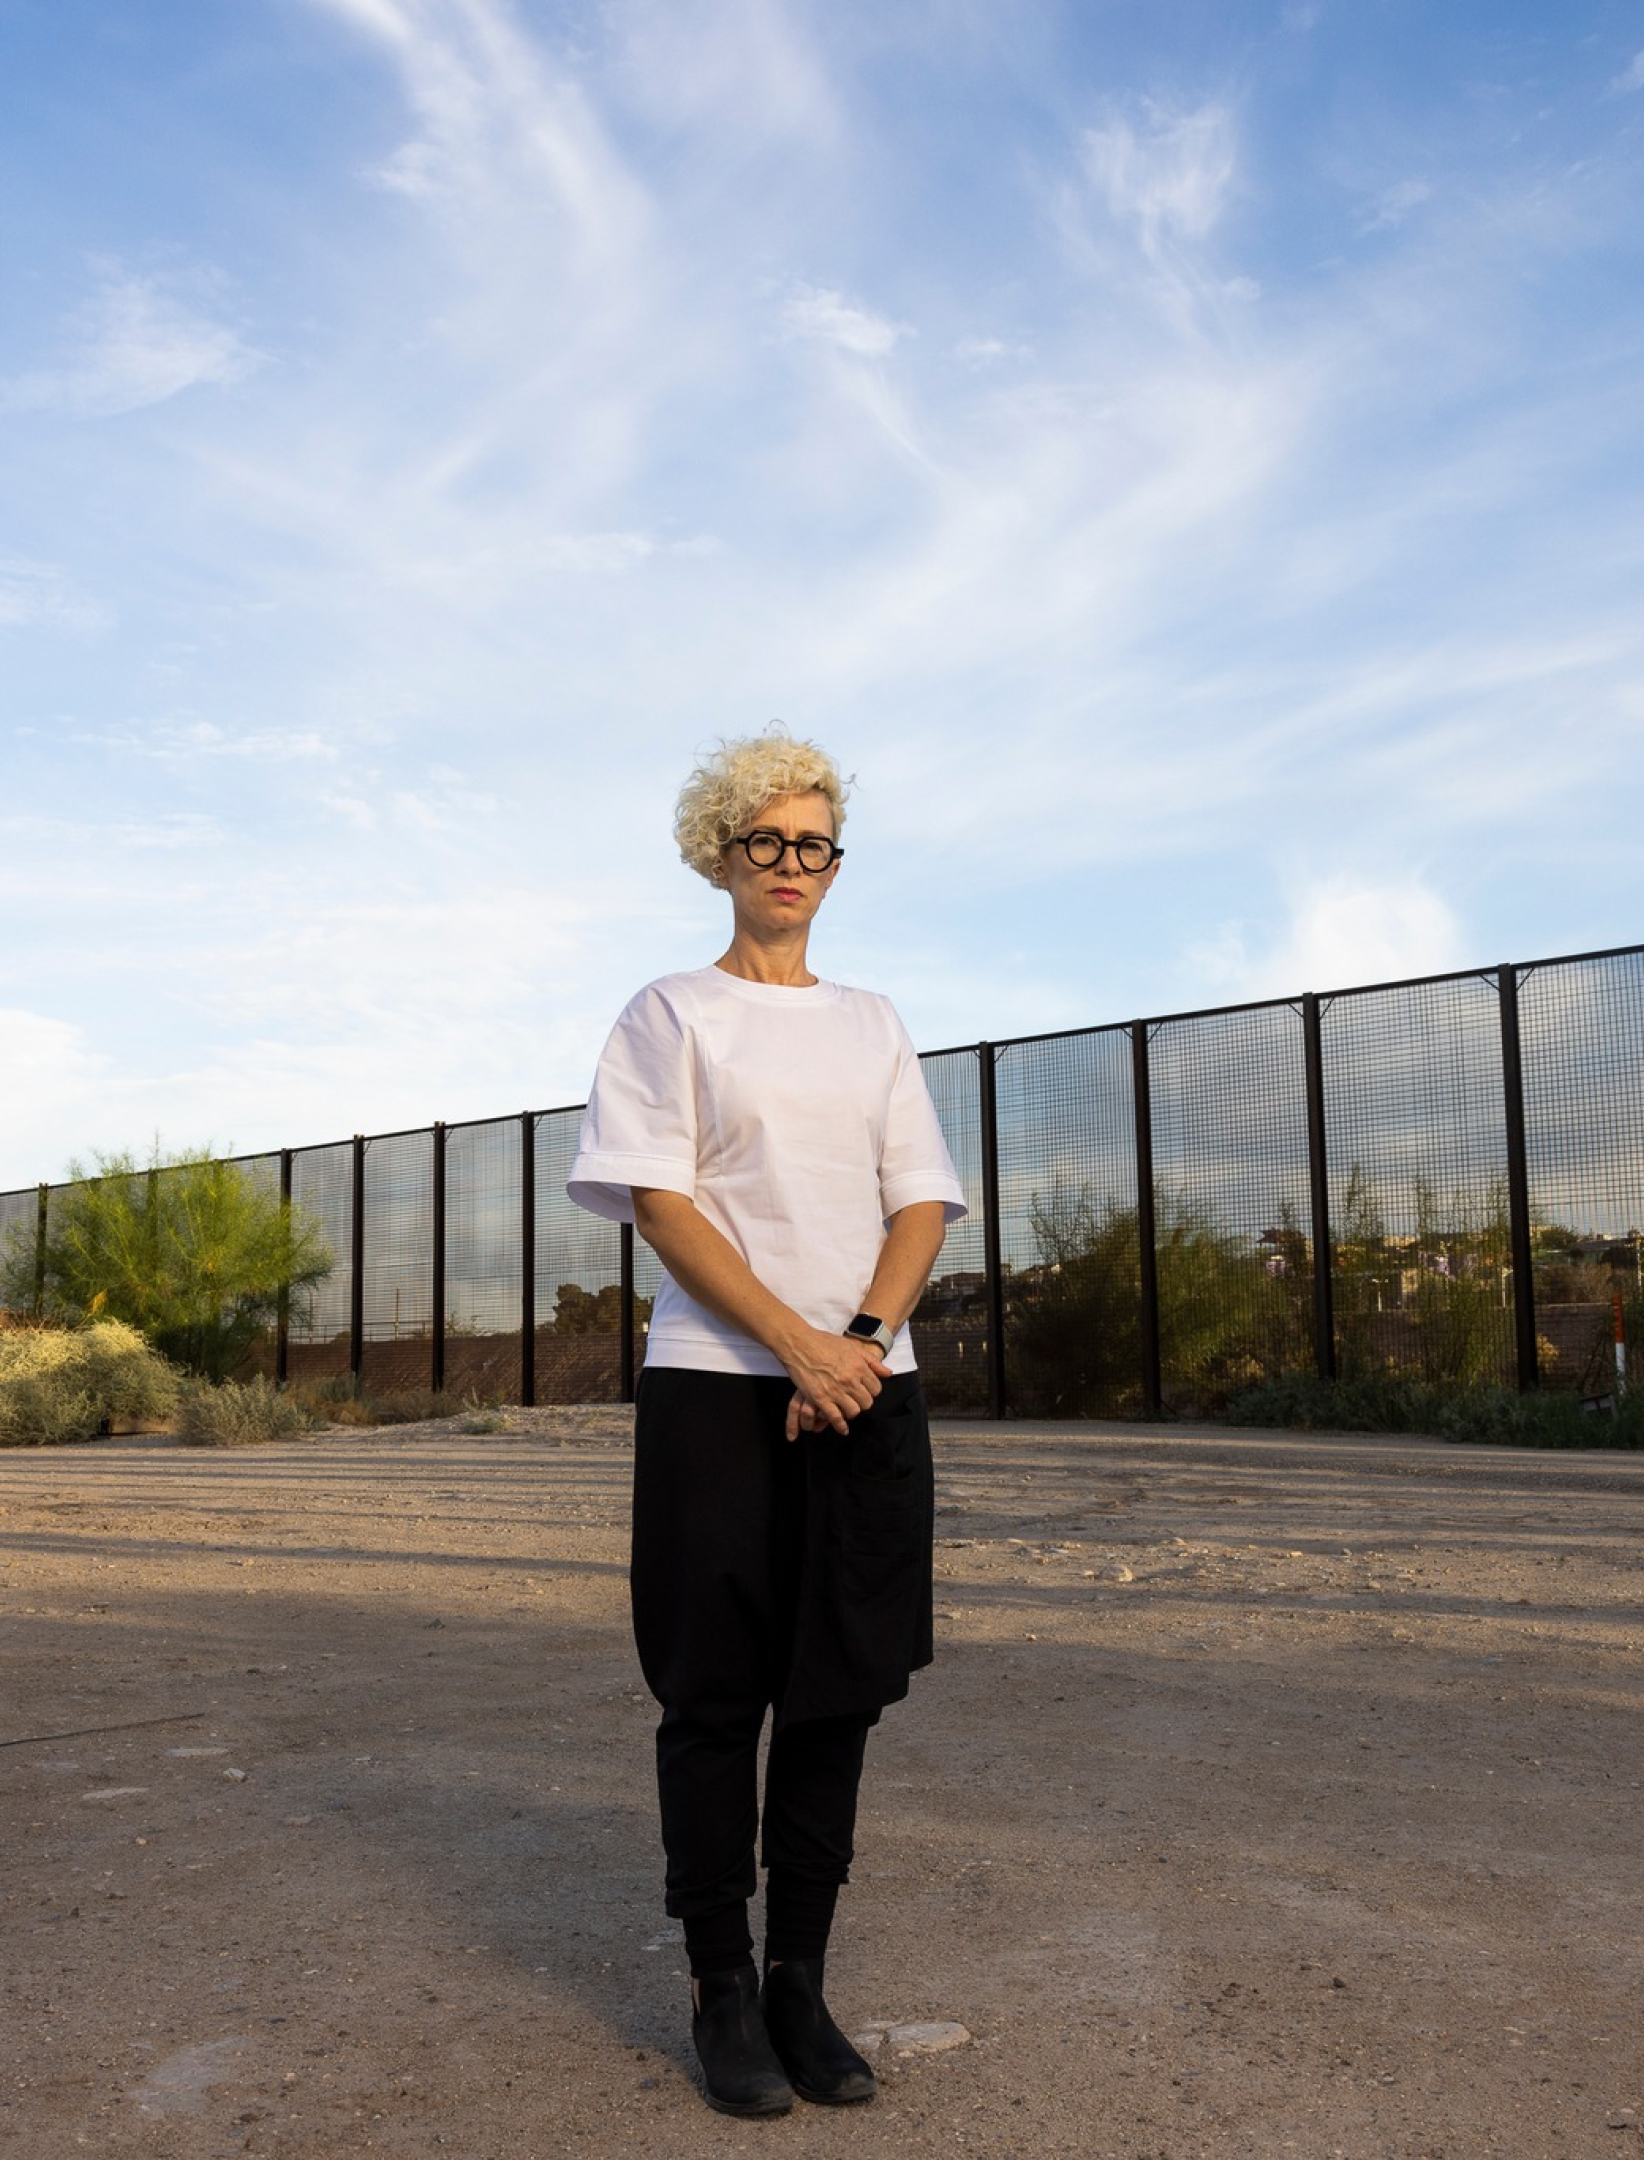
[[[63,359],[0,382],[0,404],[108,419],[201,384],[240,382],[259,361],[231,324],[171,281],[104,270]]]

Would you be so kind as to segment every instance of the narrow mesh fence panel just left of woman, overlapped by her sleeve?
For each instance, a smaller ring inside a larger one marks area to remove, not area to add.
[[[536,1121],[538,1402],[622,1395],[622,1233],[566,1197],[579,1130],[581,1110]]]

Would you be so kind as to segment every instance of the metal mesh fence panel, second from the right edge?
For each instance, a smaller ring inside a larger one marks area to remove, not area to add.
[[[1348,991],[1320,1020],[1344,1374],[1512,1382],[1493,976]]]

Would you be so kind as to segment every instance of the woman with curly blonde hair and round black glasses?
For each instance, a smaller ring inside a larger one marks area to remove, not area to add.
[[[728,892],[730,944],[626,1007],[568,1182],[665,1268],[635,1415],[633,1631],[663,1711],[665,1909],[726,2115],[873,2097],[823,1957],[868,1728],[931,1661],[931,1443],[905,1322],[964,1192],[892,1007],[806,959],[843,821],[834,762],[780,728],[691,773],[674,832]]]

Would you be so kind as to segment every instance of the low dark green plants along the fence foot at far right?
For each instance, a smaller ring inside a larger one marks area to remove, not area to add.
[[[1247,1387],[1223,1413],[1231,1426],[1303,1432],[1430,1432],[1484,1447],[1644,1447],[1644,1389],[1614,1410],[1584,1410],[1564,1389],[1439,1387],[1398,1372],[1320,1380],[1281,1374]]]

